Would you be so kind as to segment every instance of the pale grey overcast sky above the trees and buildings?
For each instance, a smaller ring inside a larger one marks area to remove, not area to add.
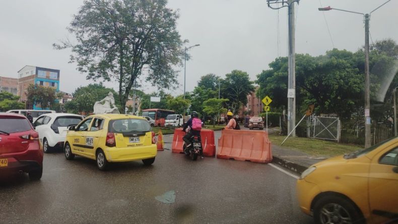
[[[369,13],[385,1],[301,0],[296,8],[296,52],[319,55],[333,46],[355,51],[364,44],[361,15],[322,13],[317,10],[320,5]],[[90,81],[76,71],[76,65],[68,64],[70,51],[53,50],[51,45],[71,37],[65,28],[82,4],[82,0],[0,0],[0,76],[16,78],[18,70],[32,65],[59,69],[61,91],[72,93],[77,87],[88,85]],[[168,5],[179,9],[181,38],[190,41],[188,46],[201,44],[190,50],[187,91],[193,90],[197,80],[208,73],[224,77],[238,69],[255,80],[275,58],[287,55],[286,8],[272,10],[266,0],[169,0]],[[398,42],[397,12],[398,0],[392,0],[372,13],[373,41],[391,38]],[[180,70],[179,87],[168,91],[173,95],[183,92],[183,68]],[[105,85],[117,90],[116,83]],[[156,90],[148,83],[144,86],[147,93]]]

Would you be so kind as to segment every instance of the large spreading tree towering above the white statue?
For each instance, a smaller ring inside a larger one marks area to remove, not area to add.
[[[53,46],[72,48],[71,62],[87,79],[117,81],[118,101],[125,105],[143,69],[146,80],[160,88],[177,83],[175,67],[183,56],[179,15],[166,5],[166,0],[85,1],[68,28],[78,43]]]

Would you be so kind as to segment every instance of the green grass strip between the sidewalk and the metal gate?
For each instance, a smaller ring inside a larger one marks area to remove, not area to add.
[[[269,135],[271,142],[281,145],[286,136]],[[325,141],[313,138],[289,137],[282,147],[302,151],[311,155],[336,156],[361,149],[358,145],[348,145],[334,141]]]

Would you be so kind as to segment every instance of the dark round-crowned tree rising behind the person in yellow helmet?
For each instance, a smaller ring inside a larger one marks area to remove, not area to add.
[[[242,104],[247,103],[247,95],[254,91],[253,82],[246,72],[240,70],[233,70],[225,76],[226,78],[221,81],[221,95],[229,99],[227,106],[236,113]]]

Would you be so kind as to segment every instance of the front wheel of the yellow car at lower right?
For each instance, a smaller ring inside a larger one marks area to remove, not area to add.
[[[364,223],[355,205],[339,196],[325,196],[314,205],[315,223]]]

